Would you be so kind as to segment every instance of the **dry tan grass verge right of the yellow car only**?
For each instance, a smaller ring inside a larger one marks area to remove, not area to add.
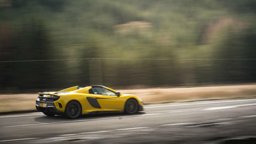
[[[122,90],[121,92],[140,96],[145,103],[184,102],[194,100],[256,97],[256,85],[207,86],[193,88],[152,88]]]

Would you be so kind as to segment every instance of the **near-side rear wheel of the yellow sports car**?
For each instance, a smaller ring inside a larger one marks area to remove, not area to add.
[[[65,116],[69,119],[78,118],[81,115],[82,108],[79,102],[70,101],[65,108]]]

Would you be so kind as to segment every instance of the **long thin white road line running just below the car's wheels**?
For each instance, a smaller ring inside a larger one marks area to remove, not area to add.
[[[83,122],[83,121],[90,121],[90,120],[106,120],[112,118],[128,118],[128,117],[135,117],[135,116],[149,116],[155,114],[142,114],[142,115],[132,115],[132,116],[116,116],[110,118],[95,118],[95,119],[86,119],[86,120],[70,120],[70,121],[62,121],[62,122],[46,122],[46,123],[39,123],[39,124],[22,124],[22,125],[14,125],[14,126],[32,126],[32,125],[40,125],[40,124],[56,124],[56,123],[65,123],[65,122]],[[2,126],[2,127],[14,127],[14,126]]]

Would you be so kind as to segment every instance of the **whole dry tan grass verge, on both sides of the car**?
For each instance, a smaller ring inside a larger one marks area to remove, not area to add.
[[[124,94],[141,97],[144,103],[184,102],[228,98],[256,97],[256,84],[234,86],[207,86],[193,88],[148,88],[119,90]],[[2,94],[0,112],[35,110],[38,94]]]

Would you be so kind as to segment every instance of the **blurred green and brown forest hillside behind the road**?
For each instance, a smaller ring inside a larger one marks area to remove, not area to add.
[[[255,0],[0,0],[0,93],[251,82]]]

